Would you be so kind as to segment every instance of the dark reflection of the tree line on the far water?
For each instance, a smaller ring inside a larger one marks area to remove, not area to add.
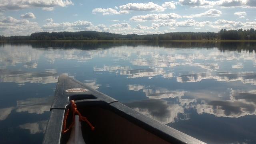
[[[215,48],[220,51],[256,50],[256,42],[170,42],[170,41],[41,41],[41,42],[0,42],[0,46],[31,45],[33,48],[78,48],[82,50],[112,48],[117,46],[157,46],[164,48]]]

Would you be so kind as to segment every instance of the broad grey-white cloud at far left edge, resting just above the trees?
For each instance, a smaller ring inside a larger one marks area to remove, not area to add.
[[[29,35],[33,32],[41,32],[42,28],[37,22],[17,20],[11,16],[0,18],[0,33],[4,36]]]

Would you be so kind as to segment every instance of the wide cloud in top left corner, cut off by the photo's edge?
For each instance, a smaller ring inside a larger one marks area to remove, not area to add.
[[[43,8],[50,10],[56,6],[65,7],[72,5],[71,0],[1,0],[0,11],[21,10],[26,8]]]

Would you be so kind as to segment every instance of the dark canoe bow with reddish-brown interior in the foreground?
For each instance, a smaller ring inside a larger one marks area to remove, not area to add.
[[[73,106],[71,100],[94,126],[92,130],[80,122],[86,144],[205,144],[66,75],[58,78],[43,144],[66,144],[70,139],[72,130],[63,133],[63,127],[74,120],[72,112],[67,113]]]

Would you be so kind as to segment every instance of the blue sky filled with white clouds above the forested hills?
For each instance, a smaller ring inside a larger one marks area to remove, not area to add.
[[[0,0],[0,35],[256,29],[256,0]]]

